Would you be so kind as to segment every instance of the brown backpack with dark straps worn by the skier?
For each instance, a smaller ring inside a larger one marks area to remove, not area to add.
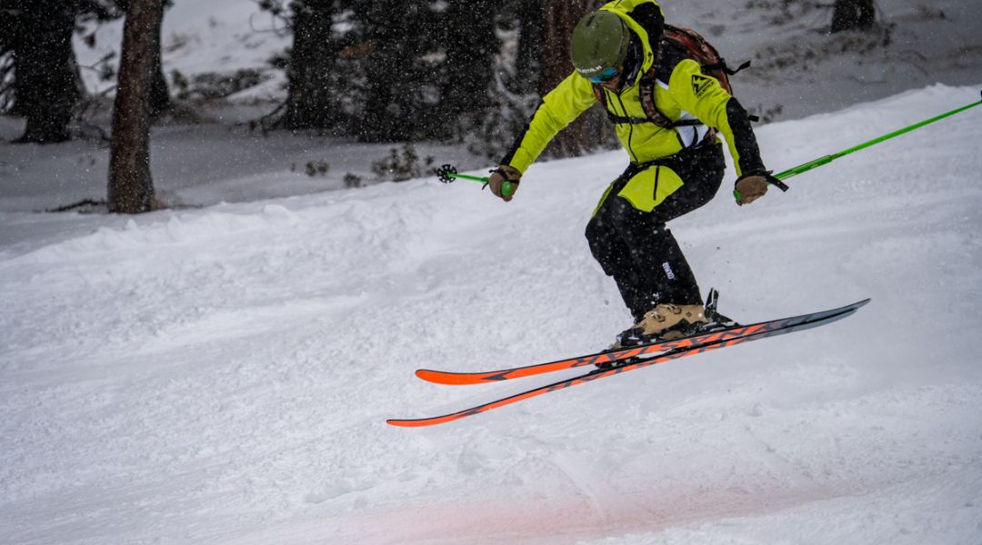
[[[695,30],[692,30],[691,28],[665,25],[665,32],[662,35],[662,42],[663,47],[666,43],[675,46],[676,48],[682,50],[686,58],[699,63],[699,66],[702,68],[702,74],[718,80],[720,82],[720,86],[731,95],[733,95],[733,86],[730,84],[730,76],[750,66],[750,61],[747,61],[740,65],[736,70],[731,69],[727,66],[727,63],[723,57],[720,56],[720,52],[717,51],[712,44],[706,41],[706,38],[702,37],[701,34]],[[656,62],[647,73],[641,76],[641,81],[639,83],[640,88],[638,90],[641,95],[641,109],[644,110],[646,119],[615,116],[614,114],[611,114],[609,110],[607,112],[607,117],[610,118],[610,120],[615,124],[653,123],[662,128],[676,128],[679,126],[702,124],[702,122],[699,122],[698,120],[673,122],[658,111],[658,108],[655,106],[655,86],[657,84],[655,82],[655,73],[657,70],[658,63]],[[599,85],[594,85],[594,92],[601,102],[605,100],[605,96],[603,95]],[[758,118],[756,116],[750,116],[750,121],[756,122],[758,121]]]

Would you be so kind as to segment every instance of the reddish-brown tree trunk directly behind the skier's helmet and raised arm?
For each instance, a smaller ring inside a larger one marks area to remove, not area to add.
[[[543,33],[540,94],[552,90],[560,81],[573,73],[570,61],[570,36],[579,20],[594,8],[587,0],[546,0],[545,32]],[[584,113],[553,139],[547,153],[555,157],[578,157],[589,147],[587,118]]]

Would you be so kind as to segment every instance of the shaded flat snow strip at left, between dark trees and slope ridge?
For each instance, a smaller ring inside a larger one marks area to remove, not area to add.
[[[16,138],[20,125],[0,118],[0,138]],[[391,147],[399,146],[307,134],[264,136],[237,124],[168,124],[153,129],[150,163],[162,200],[175,207],[212,206],[341,189],[348,173],[374,183],[371,163],[385,159]],[[414,148],[421,161],[454,155],[473,161],[458,146],[422,143]],[[105,199],[109,149],[103,142],[68,142],[55,154],[43,146],[9,145],[3,154],[0,211],[36,212]],[[326,162],[330,170],[308,175],[305,167],[311,162]]]

